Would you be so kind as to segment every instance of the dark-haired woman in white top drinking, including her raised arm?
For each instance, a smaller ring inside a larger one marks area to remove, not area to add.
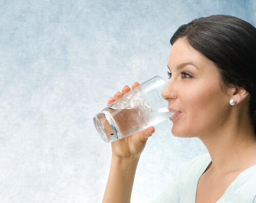
[[[256,202],[256,29],[228,15],[195,19],[170,39],[172,132],[198,137],[207,154],[192,160],[154,202]],[[132,88],[138,86],[135,82]],[[130,91],[124,86],[108,104]],[[130,202],[136,167],[154,127],[112,143],[103,202]]]

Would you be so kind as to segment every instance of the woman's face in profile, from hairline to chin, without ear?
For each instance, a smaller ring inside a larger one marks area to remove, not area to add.
[[[165,88],[162,97],[168,108],[181,111],[173,120],[172,133],[197,137],[220,128],[229,115],[230,97],[220,87],[216,65],[180,38],[170,51],[168,67],[172,73],[169,85],[175,95]]]

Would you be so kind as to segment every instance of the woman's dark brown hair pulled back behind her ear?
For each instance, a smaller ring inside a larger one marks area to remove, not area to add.
[[[250,94],[248,114],[256,132],[256,28],[234,16],[211,15],[180,26],[170,43],[181,37],[216,64],[224,84]]]

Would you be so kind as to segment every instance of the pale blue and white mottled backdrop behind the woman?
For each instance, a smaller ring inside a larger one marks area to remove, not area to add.
[[[111,145],[93,116],[134,81],[167,78],[169,39],[211,14],[255,26],[248,1],[0,1],[0,202],[100,202]],[[150,202],[193,157],[197,138],[156,126],[132,202]]]

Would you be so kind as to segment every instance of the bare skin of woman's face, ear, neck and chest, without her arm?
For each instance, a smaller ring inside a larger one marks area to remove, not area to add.
[[[197,67],[178,69],[184,62]],[[224,85],[217,66],[185,38],[174,43],[168,67],[174,93],[165,88],[162,97],[182,111],[173,121],[172,133],[199,138],[212,160],[199,179],[196,202],[216,202],[242,171],[256,164],[256,135],[247,114],[249,94],[241,87]],[[230,99],[236,105],[231,106]]]

